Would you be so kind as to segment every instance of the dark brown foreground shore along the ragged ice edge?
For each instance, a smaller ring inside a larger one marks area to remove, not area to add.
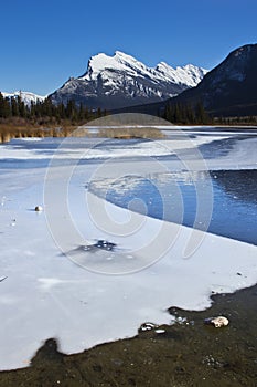
[[[257,285],[212,296],[201,312],[170,307],[178,317],[164,333],[139,332],[131,338],[65,355],[49,338],[31,367],[0,372],[0,386],[254,386],[257,377]],[[229,325],[204,325],[224,314]]]

